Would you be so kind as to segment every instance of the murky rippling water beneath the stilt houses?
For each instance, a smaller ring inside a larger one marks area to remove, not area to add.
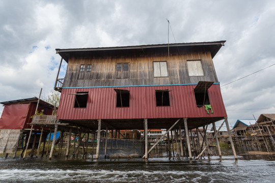
[[[0,159],[0,182],[275,182],[274,156],[211,161]]]

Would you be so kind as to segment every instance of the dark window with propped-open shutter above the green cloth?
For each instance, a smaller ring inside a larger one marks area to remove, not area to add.
[[[209,81],[199,81],[194,89],[197,107],[202,107],[203,105],[210,105],[210,100],[208,97],[208,88],[214,82]]]

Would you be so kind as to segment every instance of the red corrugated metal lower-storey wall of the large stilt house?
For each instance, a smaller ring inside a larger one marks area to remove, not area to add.
[[[58,110],[59,119],[137,119],[178,117],[224,117],[227,116],[219,84],[208,89],[213,114],[204,107],[196,106],[196,85],[135,86],[102,88],[62,89]],[[114,88],[130,91],[130,106],[116,107],[117,93]],[[156,106],[155,90],[169,89],[170,106]],[[89,92],[86,108],[74,108],[76,92]]]

